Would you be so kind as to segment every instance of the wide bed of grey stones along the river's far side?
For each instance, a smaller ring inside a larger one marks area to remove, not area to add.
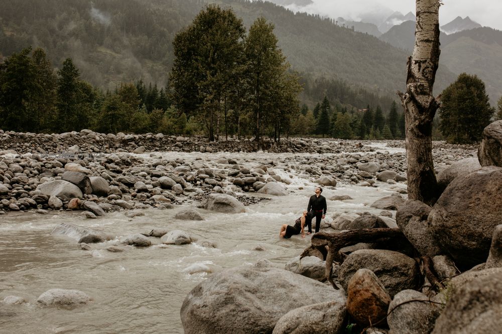
[[[387,148],[378,149],[379,145]],[[0,213],[84,208],[89,211],[84,214],[93,217],[190,200],[203,206],[212,192],[236,196],[247,205],[262,199],[240,193],[280,194],[290,183],[290,174],[331,187],[337,182],[361,186],[371,186],[375,180],[405,182],[403,148],[403,141],[292,138],[257,144],[90,130],[52,135],[0,130]],[[389,153],[396,149],[400,152]],[[475,156],[475,149],[435,142],[436,168]],[[213,152],[222,153],[215,159]],[[233,154],[237,152],[250,154],[237,159]],[[263,155],[254,159],[254,152],[286,154],[273,161]]]

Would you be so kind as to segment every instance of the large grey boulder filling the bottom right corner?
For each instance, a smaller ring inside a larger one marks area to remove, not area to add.
[[[432,334],[499,333],[500,319],[502,279],[497,272],[454,289]]]

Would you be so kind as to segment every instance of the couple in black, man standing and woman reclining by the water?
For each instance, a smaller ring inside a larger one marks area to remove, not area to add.
[[[321,226],[321,219],[324,219],[326,215],[326,198],[321,195],[322,188],[315,188],[315,195],[310,196],[309,204],[307,206],[307,211],[303,211],[300,218],[295,221],[295,226],[288,224],[283,224],[281,226],[281,231],[279,232],[279,237],[291,238],[292,235],[302,233],[302,238],[305,238],[305,224],[308,226],[307,234],[312,233],[312,218],[315,220],[315,231],[319,232]]]

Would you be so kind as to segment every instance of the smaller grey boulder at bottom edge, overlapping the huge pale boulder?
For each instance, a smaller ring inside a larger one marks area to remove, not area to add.
[[[295,308],[277,321],[272,334],[338,333],[343,329],[346,307],[339,301],[325,301]]]

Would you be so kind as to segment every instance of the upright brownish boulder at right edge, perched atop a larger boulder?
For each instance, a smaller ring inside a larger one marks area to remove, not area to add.
[[[502,167],[502,120],[495,121],[484,128],[477,157],[483,167]]]

